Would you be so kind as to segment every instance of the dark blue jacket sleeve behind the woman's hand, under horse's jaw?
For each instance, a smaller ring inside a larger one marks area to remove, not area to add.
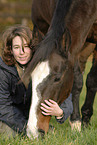
[[[60,105],[60,108],[63,110],[63,117],[61,119],[55,118],[57,122],[62,124],[73,112],[72,94]]]

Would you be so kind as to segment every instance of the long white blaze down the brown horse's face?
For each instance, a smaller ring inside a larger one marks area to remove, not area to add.
[[[37,128],[37,106],[40,101],[40,93],[37,92],[37,86],[46,78],[50,73],[48,61],[42,62],[36,66],[31,74],[32,77],[32,103],[30,107],[29,119],[27,124],[27,135],[31,138],[38,137]]]

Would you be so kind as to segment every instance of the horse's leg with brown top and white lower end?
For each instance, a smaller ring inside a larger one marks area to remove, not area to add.
[[[82,90],[83,85],[83,76],[82,73],[85,69],[85,64],[88,57],[91,55],[95,48],[96,44],[85,43],[82,51],[78,56],[78,63],[75,64],[74,68],[74,83],[72,88],[72,101],[73,101],[73,113],[70,118],[70,124],[72,129],[81,129],[80,122],[80,111],[79,111],[79,97]]]

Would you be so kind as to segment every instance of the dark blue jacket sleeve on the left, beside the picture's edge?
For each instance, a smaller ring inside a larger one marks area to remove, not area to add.
[[[25,131],[27,120],[11,100],[11,75],[0,70],[0,120],[19,133]]]

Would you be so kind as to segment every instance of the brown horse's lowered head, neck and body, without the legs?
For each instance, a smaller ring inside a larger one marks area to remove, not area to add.
[[[88,11],[87,11],[88,10]],[[27,86],[32,77],[32,104],[27,135],[47,133],[51,116],[39,109],[44,99],[61,104],[73,85],[77,56],[96,20],[97,0],[33,0],[32,22],[45,37],[36,48],[22,81]],[[37,80],[36,80],[37,78]]]

